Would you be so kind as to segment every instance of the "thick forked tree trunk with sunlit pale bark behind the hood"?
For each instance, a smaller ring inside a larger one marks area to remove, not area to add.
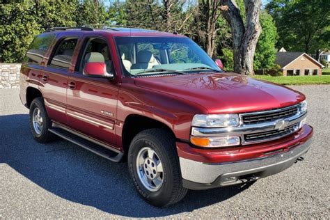
[[[259,22],[261,0],[244,0],[246,27],[235,0],[221,0],[223,17],[233,34],[234,72],[254,74],[253,57],[261,33]]]

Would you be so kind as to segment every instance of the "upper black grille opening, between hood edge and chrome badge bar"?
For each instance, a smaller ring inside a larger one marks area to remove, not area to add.
[[[290,118],[299,112],[299,105],[285,107],[283,109],[274,109],[271,111],[260,111],[258,113],[242,114],[244,125],[272,122],[278,119]]]

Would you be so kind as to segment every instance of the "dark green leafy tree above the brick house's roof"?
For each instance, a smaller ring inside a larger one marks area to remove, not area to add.
[[[329,47],[329,0],[272,0],[266,9],[278,29],[278,47],[315,52]]]

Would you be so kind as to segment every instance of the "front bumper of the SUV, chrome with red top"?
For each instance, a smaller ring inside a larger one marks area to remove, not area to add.
[[[210,189],[249,182],[279,173],[292,166],[309,150],[313,129],[308,125],[304,125],[304,129],[305,132],[295,136],[294,144],[273,151],[268,156],[264,154],[263,157],[223,163],[198,162],[180,157],[183,185],[188,189]]]

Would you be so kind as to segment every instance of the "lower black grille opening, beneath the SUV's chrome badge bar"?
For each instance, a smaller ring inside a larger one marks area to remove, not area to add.
[[[289,125],[283,130],[272,130],[268,132],[258,132],[253,134],[244,134],[244,141],[249,142],[260,142],[260,141],[269,141],[272,139],[278,139],[283,136],[287,136],[296,132],[299,128],[299,124]]]

